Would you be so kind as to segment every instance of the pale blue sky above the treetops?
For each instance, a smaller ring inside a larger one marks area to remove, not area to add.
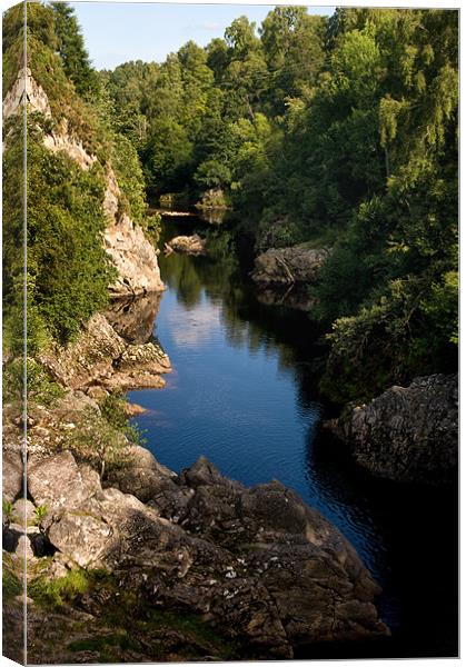
[[[259,27],[272,4],[157,4],[138,2],[70,2],[75,8],[96,69],[113,69],[129,60],[165,60],[192,39],[200,47],[241,14]],[[330,16],[333,7],[309,13]]]

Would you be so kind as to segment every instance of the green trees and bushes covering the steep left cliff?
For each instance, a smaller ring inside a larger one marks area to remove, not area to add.
[[[51,340],[67,342],[108,301],[115,269],[103,249],[106,170],[121,189],[120,212],[143,223],[146,196],[136,148],[118,132],[111,101],[92,70],[73,10],[66,3],[28,3],[27,64],[47,93],[51,115],[29,109],[27,152],[21,115],[4,125],[3,305],[4,347],[23,348],[23,283],[28,293],[28,354]],[[8,89],[23,66],[23,8],[3,21],[3,74]],[[46,136],[81,142],[97,160],[82,169]],[[27,269],[23,253],[27,159]]]

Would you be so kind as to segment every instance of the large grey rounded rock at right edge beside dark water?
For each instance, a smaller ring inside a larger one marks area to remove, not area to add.
[[[453,481],[458,461],[458,376],[416,378],[325,422],[374,475],[396,481]]]

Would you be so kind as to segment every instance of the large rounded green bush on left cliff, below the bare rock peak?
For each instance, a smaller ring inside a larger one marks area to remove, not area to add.
[[[28,312],[66,344],[108,302],[103,175],[28,142]],[[40,347],[40,346],[37,346]]]

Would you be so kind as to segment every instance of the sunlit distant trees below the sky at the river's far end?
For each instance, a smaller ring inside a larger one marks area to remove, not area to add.
[[[237,200],[256,189],[266,147],[287,107],[311,94],[324,62],[325,20],[276,8],[260,30],[236,19],[225,40],[192,41],[161,64],[128,62],[102,72],[120,131],[138,148],[153,195],[222,188]]]

